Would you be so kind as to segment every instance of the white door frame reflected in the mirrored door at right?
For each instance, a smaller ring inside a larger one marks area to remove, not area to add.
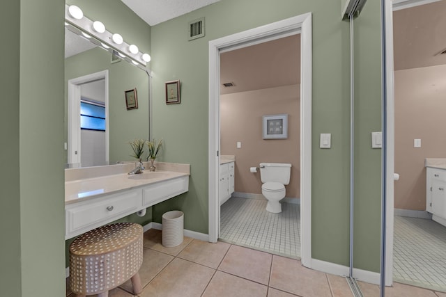
[[[394,131],[394,52],[393,52],[393,11],[414,6],[420,6],[440,0],[386,0],[385,1],[385,35],[386,35],[386,74],[387,74],[387,168],[386,168],[386,226],[385,226],[385,285],[393,282],[393,237],[394,237],[394,159],[395,159],[395,131]]]

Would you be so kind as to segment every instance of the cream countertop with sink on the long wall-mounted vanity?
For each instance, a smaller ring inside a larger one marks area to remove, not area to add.
[[[89,172],[91,170],[102,170],[102,172],[116,171],[116,165],[113,165],[112,168],[102,166],[102,168],[79,169],[83,170],[83,172],[72,172],[72,170],[77,169],[70,169],[70,172],[66,171],[65,204],[86,201],[102,195],[190,175],[190,166],[188,164],[155,163],[155,166],[160,168],[160,170],[155,172],[144,170],[143,173],[137,175],[128,175],[127,172],[114,172],[115,174],[112,175],[91,175],[91,172]],[[132,167],[134,166],[130,164],[130,168]],[[128,170],[129,166],[123,168]],[[162,170],[167,168],[170,170]]]

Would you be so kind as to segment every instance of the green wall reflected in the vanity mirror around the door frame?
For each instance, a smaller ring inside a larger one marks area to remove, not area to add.
[[[65,61],[65,116],[67,131],[68,80],[109,70],[109,160],[132,161],[128,144],[134,138],[148,138],[148,75],[134,65],[110,63],[112,54],[100,48],[70,56]],[[137,88],[138,109],[125,106],[124,91]]]

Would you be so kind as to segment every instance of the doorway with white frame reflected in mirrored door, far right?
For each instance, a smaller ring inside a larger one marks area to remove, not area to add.
[[[386,7],[386,285],[396,281],[446,291],[446,227],[431,219],[426,199],[426,161],[446,157],[435,131],[443,126],[443,115],[436,113],[446,95],[445,74],[438,76],[446,70],[446,57],[438,55],[446,45],[435,38],[446,28],[445,7],[444,0],[399,0]]]

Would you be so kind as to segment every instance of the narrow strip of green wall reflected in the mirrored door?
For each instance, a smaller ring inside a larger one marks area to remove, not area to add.
[[[355,202],[353,266],[380,271],[381,150],[371,132],[381,128],[380,1],[367,1],[355,18]]]

